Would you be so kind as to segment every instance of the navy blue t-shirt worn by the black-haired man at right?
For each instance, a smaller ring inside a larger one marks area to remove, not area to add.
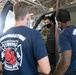
[[[69,71],[76,71],[76,26],[68,26],[58,37],[59,52],[72,50]]]

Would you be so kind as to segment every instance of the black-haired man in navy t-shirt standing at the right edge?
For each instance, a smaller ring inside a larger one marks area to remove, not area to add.
[[[59,62],[54,75],[76,75],[76,26],[71,24],[70,13],[60,9],[57,13],[61,33],[58,37]]]

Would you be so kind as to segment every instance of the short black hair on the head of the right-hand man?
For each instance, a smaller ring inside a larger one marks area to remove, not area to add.
[[[70,13],[65,9],[60,9],[56,15],[57,21],[66,23],[67,21],[70,21]]]

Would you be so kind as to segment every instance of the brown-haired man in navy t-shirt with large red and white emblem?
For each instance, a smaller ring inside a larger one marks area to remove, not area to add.
[[[27,3],[18,2],[14,6],[15,27],[0,36],[3,75],[35,75],[38,67],[45,74],[51,70],[40,33],[26,27],[30,20],[29,12]]]

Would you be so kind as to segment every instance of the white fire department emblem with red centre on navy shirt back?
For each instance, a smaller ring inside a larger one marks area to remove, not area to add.
[[[17,40],[7,40],[1,44],[1,60],[4,68],[9,71],[18,70],[22,64],[22,45],[18,45]]]

